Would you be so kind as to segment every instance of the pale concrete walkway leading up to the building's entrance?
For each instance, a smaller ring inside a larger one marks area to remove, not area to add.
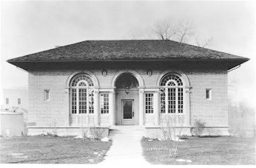
[[[110,138],[112,146],[100,164],[136,165],[149,164],[142,155],[141,138],[144,127],[138,125],[121,125],[112,127]]]

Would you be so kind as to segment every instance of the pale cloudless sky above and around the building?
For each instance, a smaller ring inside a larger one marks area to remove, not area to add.
[[[1,1],[1,91],[27,88],[27,72],[6,60],[85,40],[127,40],[157,21],[193,21],[209,49],[249,57],[229,72],[229,95],[255,102],[253,1]],[[2,99],[1,99],[2,101]]]

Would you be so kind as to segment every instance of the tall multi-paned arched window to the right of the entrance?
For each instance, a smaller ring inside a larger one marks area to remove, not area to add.
[[[183,82],[176,74],[166,74],[161,82],[161,113],[183,113]]]

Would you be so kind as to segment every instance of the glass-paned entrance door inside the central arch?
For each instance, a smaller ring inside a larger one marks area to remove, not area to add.
[[[134,125],[134,103],[133,99],[122,100],[123,119],[122,125]]]

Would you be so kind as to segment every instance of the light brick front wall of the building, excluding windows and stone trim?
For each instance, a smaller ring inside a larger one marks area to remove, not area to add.
[[[36,122],[36,127],[67,127],[69,122],[68,94],[65,93],[67,78],[74,71],[53,70],[30,71],[29,73],[29,115],[28,122]],[[83,71],[83,70],[81,70]],[[112,78],[121,69],[107,69],[107,76],[101,70],[89,70],[98,78],[100,88],[110,88]],[[144,69],[135,69],[144,80],[146,87],[154,87],[164,70],[153,70],[151,76]],[[171,71],[175,71],[172,69]],[[227,73],[217,70],[179,69],[189,78],[191,85],[190,114],[201,119],[207,126],[227,126]],[[212,88],[212,100],[206,99],[206,88]],[[44,90],[50,90],[50,100],[44,101]],[[154,125],[154,116],[145,116],[146,125]],[[90,121],[94,121],[91,117]],[[102,125],[107,125],[109,115],[100,114]]]

